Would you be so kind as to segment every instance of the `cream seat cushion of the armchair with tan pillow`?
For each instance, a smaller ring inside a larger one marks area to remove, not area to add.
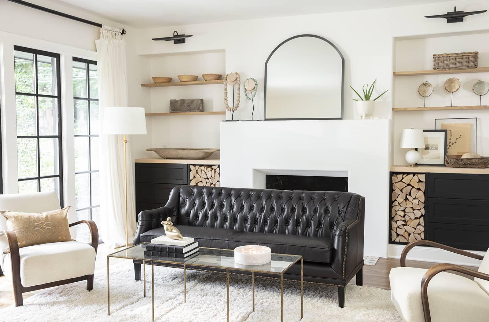
[[[95,269],[95,249],[79,241],[63,241],[19,248],[21,283],[24,287],[57,280],[92,275]],[[1,258],[1,268],[12,280],[10,254]]]

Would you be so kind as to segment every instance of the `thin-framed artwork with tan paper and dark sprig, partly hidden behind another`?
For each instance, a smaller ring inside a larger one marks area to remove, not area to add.
[[[477,118],[435,119],[435,129],[446,129],[446,154],[463,155],[477,150]]]

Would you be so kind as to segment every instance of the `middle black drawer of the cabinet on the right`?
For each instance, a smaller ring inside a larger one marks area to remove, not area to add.
[[[489,226],[489,200],[428,198],[426,218],[428,222]]]

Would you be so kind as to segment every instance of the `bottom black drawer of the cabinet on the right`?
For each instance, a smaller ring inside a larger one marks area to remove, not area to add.
[[[487,251],[489,245],[488,226],[429,223],[426,236],[458,249]]]

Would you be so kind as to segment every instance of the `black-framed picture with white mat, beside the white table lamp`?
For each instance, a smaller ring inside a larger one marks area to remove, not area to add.
[[[420,166],[445,166],[446,129],[423,129],[424,148],[420,152]]]

